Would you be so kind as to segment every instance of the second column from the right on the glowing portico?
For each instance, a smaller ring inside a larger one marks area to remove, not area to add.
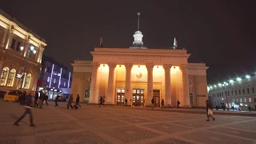
[[[165,105],[171,106],[171,89],[170,89],[170,68],[171,64],[164,65],[165,69],[165,88],[166,88],[166,99],[165,99]]]

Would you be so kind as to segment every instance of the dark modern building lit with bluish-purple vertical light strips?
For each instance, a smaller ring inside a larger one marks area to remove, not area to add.
[[[67,67],[43,54],[38,90],[46,90],[49,98],[54,99],[57,94],[69,95],[71,83],[72,74]]]

